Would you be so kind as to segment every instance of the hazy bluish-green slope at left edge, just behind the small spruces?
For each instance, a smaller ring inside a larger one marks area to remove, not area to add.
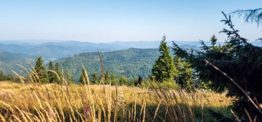
[[[22,68],[17,64],[29,68],[27,60],[34,64],[34,57],[28,54],[13,54],[10,52],[0,51],[0,70],[2,70],[4,74],[9,74],[11,70],[20,73]]]

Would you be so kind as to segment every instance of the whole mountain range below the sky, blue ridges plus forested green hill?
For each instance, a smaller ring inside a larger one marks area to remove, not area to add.
[[[108,67],[108,69],[112,69],[110,72],[113,74],[121,74],[127,77],[137,77],[138,72],[140,72],[142,76],[146,76],[148,75],[148,72],[150,71],[150,68],[152,67],[155,59],[159,56],[157,48],[159,47],[160,43],[160,41],[114,41],[110,43],[90,43],[81,41],[54,40],[41,42],[32,40],[0,41],[0,70],[10,73],[11,70],[19,69],[16,65],[17,63],[21,65],[27,65],[26,59],[33,63],[36,57],[41,56],[46,63],[48,63],[50,60],[57,61],[62,63],[63,67],[65,68],[74,68],[70,64],[70,61],[81,61],[77,65],[78,69],[75,68],[71,70],[72,74],[78,75],[79,65],[81,65],[81,63],[86,63],[88,68],[91,68],[90,71],[99,70],[97,67],[99,67],[100,64],[90,65],[93,64],[94,61],[97,61],[97,59],[94,57],[97,57],[97,52],[99,51],[102,52],[102,58],[107,57],[103,59],[103,61],[105,61],[105,65]],[[168,46],[172,47],[172,41],[167,42]],[[194,50],[199,50],[199,47],[201,46],[199,41],[175,41],[175,43],[185,50],[189,50],[191,48]],[[207,45],[210,45],[209,42],[206,43]],[[254,45],[262,45],[260,41],[252,41],[252,43]],[[132,57],[132,54],[134,57]],[[108,58],[108,55],[110,55],[112,58]],[[151,59],[148,59],[147,56],[150,56]],[[81,58],[77,59],[79,57]],[[91,59],[94,58],[96,60],[84,59],[83,57],[89,57]],[[117,60],[114,58],[128,58],[130,59],[130,62]],[[132,63],[136,65],[130,66]],[[139,63],[141,63],[141,65],[137,65]],[[117,67],[117,65],[119,65],[120,70],[112,68],[111,65],[113,67]],[[124,65],[126,65],[126,67]],[[121,68],[126,69],[127,67],[131,70],[121,70]],[[134,70],[132,67],[137,69]],[[139,70],[138,68],[142,68],[143,70]],[[128,72],[133,73],[128,74]]]

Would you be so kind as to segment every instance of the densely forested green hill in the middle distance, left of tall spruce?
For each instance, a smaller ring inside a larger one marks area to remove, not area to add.
[[[148,77],[151,73],[154,61],[159,57],[160,53],[155,49],[137,49],[130,48],[127,50],[119,50],[114,52],[102,52],[101,57],[105,70],[110,74],[124,75],[125,77]],[[61,67],[72,72],[74,79],[79,79],[82,63],[88,70],[88,74],[94,71],[101,72],[101,65],[97,52],[81,53],[57,62]]]

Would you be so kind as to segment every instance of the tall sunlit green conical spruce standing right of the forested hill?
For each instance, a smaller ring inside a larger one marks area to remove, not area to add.
[[[152,77],[158,82],[173,81],[176,68],[174,67],[173,59],[165,41],[165,36],[159,45],[161,56],[157,58],[152,68]]]

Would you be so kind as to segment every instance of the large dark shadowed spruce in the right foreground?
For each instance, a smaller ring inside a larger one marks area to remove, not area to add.
[[[262,114],[245,96],[248,94],[253,101],[262,103],[262,48],[248,43],[247,39],[241,37],[238,33],[239,30],[234,29],[230,17],[225,15],[223,22],[230,27],[230,30],[223,29],[221,31],[228,34],[228,41],[221,47],[221,50],[213,49],[201,41],[203,52],[193,55],[188,54],[173,42],[175,54],[190,61],[198,73],[199,79],[208,83],[212,90],[216,92],[227,90],[228,96],[234,96],[236,99],[232,109],[241,116],[241,119],[248,120],[244,112],[247,110],[251,118],[256,117],[257,121],[262,121]],[[206,65],[204,60],[228,74],[245,91],[245,94],[224,74],[212,66]],[[259,109],[261,110],[261,108]]]

